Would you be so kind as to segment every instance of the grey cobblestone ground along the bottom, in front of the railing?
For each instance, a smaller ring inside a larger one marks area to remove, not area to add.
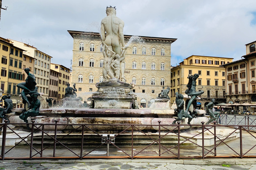
[[[149,160],[147,160],[148,162]],[[214,161],[214,160],[213,160]],[[250,159],[250,162],[255,162],[256,159]],[[131,162],[123,162],[121,160],[118,160],[117,162],[98,162],[98,163],[64,163],[65,160],[62,161],[63,163],[47,163],[47,160],[45,162],[41,163],[28,163],[27,161],[2,161],[0,163],[0,169],[37,169],[37,170],[46,170],[46,169],[84,169],[84,170],[91,170],[91,169],[97,169],[97,170],[119,170],[119,169],[214,169],[214,170],[222,170],[222,169],[255,169],[256,170],[256,164],[236,164],[236,165],[229,165],[222,164],[222,165],[196,165],[196,164],[203,164],[202,161],[194,161],[194,165],[192,164],[175,164],[175,163],[163,163],[163,160],[159,160],[161,163],[157,163],[158,161],[156,159],[152,159],[151,162],[153,163],[131,163]],[[67,161],[68,162],[68,161]],[[218,162],[218,161],[217,161]],[[207,162],[204,162],[207,164]],[[234,163],[234,162],[232,162]]]

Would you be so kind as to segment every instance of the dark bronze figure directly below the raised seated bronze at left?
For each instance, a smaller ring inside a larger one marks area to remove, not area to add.
[[[40,108],[40,105],[41,105],[41,102],[39,99],[37,99],[37,97],[40,95],[38,94],[38,92],[36,91],[31,91],[28,93],[29,96],[31,97],[32,101],[30,102],[30,107],[28,109],[28,111],[26,112],[23,112],[22,114],[20,114],[20,118],[28,123],[28,120],[27,118],[29,116],[38,116],[39,115],[39,108]],[[27,127],[29,128],[29,126],[27,125]]]

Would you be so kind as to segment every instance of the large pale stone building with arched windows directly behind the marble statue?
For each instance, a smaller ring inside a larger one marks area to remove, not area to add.
[[[90,100],[98,90],[95,83],[103,81],[101,37],[97,32],[68,32],[74,39],[71,83],[77,85],[77,96]],[[171,44],[177,39],[142,36],[144,43],[134,43],[134,37],[124,38],[130,44],[125,53],[126,82],[135,84],[138,103],[146,107],[163,86],[171,85]]]

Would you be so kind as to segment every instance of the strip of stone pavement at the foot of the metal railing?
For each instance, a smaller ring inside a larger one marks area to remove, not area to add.
[[[0,169],[250,169],[256,170],[254,158],[214,158],[214,159],[56,159],[56,160],[3,160]]]

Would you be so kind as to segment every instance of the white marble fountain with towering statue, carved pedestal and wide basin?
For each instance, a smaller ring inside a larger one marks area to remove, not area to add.
[[[161,124],[173,124],[178,121],[181,122],[181,124],[189,123],[198,126],[201,125],[202,121],[208,122],[209,118],[204,116],[205,111],[195,110],[193,107],[189,106],[186,111],[183,110],[185,107],[183,106],[184,102],[181,94],[177,95],[178,107],[174,104],[172,109],[170,109],[170,107],[138,108],[137,96],[132,91],[135,85],[126,83],[124,76],[125,50],[129,48],[129,44],[125,44],[124,41],[124,22],[116,16],[115,7],[107,7],[106,14],[107,16],[101,21],[102,55],[104,57],[102,74],[104,81],[95,84],[98,90],[92,94],[91,108],[82,107],[82,103],[79,104],[81,107],[68,107],[63,101],[66,107],[40,108],[38,114],[30,115],[30,117],[26,116],[25,118],[20,116],[25,113],[23,108],[19,108],[14,109],[14,113],[9,114],[10,122],[23,123],[25,119],[28,123],[31,123],[31,120],[34,120],[35,123],[55,123],[57,121],[59,124],[73,125],[74,129],[77,128],[76,124],[145,124],[145,126],[141,126],[141,130],[145,131],[158,130],[158,126],[154,125],[158,125],[159,122],[161,122]],[[33,75],[28,74],[28,77],[28,80],[33,81]],[[26,83],[21,85],[26,87]],[[189,86],[188,95],[193,99],[193,101],[190,102],[191,105],[196,96],[198,96],[198,92],[195,91],[195,81],[192,81]],[[33,89],[36,91],[34,86]],[[30,91],[31,90],[27,90],[27,94],[29,94]],[[65,98],[65,101],[70,102],[70,98],[76,99],[75,87],[69,87],[67,91],[69,94],[65,96],[69,97],[69,100]],[[167,87],[167,89],[163,88],[163,91],[156,100],[164,101],[165,103],[169,101],[169,91],[169,87]],[[25,100],[26,95],[23,95]],[[28,100],[28,102],[30,101]],[[192,116],[192,114],[195,113],[197,117]],[[177,115],[178,117],[175,117]],[[24,129],[26,125],[15,124],[15,128]],[[91,128],[98,132],[117,133],[124,130],[126,127],[109,125],[92,126]],[[170,128],[174,129],[175,127],[170,126]],[[180,128],[189,129],[190,126],[181,126]],[[53,131],[54,126],[45,126],[44,130]],[[62,125],[58,130],[65,132],[71,129],[70,126]]]

